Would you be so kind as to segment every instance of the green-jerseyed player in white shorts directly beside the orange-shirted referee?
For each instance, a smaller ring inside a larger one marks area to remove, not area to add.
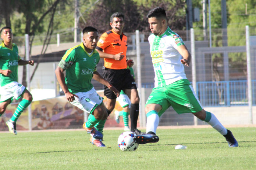
[[[94,89],[92,78],[112,90],[117,97],[119,91],[102,78],[96,71],[100,56],[95,50],[99,34],[94,27],[83,29],[83,42],[68,49],[58,64],[55,74],[67,100],[89,114],[83,128],[91,135],[90,142],[97,147],[105,147],[103,127],[108,117],[103,98]],[[64,76],[64,71],[66,75]]]

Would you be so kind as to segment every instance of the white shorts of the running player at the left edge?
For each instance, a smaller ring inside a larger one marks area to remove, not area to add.
[[[11,98],[19,99],[24,92],[25,86],[16,81],[10,82],[3,87],[0,87],[0,102],[6,101]]]

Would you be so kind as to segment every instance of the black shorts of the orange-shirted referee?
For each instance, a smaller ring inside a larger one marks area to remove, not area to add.
[[[117,90],[125,89],[137,89],[134,78],[131,75],[129,69],[107,69],[103,70],[103,78],[106,79],[111,85],[113,85]],[[104,86],[104,95],[108,99],[116,99],[117,96],[112,92],[107,86]]]

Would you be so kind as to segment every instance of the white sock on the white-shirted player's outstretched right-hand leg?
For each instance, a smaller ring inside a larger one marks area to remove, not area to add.
[[[227,129],[218,121],[218,119],[211,112],[206,112],[205,122],[216,129],[220,134],[225,135],[228,133]]]

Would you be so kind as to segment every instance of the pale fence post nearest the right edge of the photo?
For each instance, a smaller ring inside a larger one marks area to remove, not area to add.
[[[250,66],[250,32],[249,26],[245,26],[246,32],[246,62],[247,62],[247,83],[248,83],[248,108],[249,108],[249,123],[253,124],[252,119],[252,77]]]

